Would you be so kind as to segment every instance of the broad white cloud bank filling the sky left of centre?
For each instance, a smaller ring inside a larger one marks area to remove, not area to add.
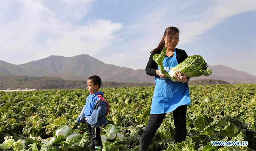
[[[32,57],[8,61],[14,64],[50,55],[94,55],[111,45],[113,32],[122,27],[121,23],[104,19],[77,25],[76,22],[91,7],[88,1],[54,1],[54,4],[46,1],[18,1],[16,7],[10,3],[15,1],[1,4],[1,9],[5,7],[1,10],[4,16],[3,20],[1,18],[1,59],[8,58],[6,55],[30,54]],[[9,15],[14,9],[19,9],[19,13]],[[13,19],[7,19],[9,17]]]

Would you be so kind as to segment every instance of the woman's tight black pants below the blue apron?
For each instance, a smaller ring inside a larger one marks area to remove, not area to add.
[[[174,143],[182,142],[187,136],[187,126],[186,126],[186,114],[187,105],[182,105],[177,107],[173,111],[173,119],[175,125],[175,140]],[[166,113],[163,114],[150,114],[148,125],[144,129],[140,142],[140,151],[148,149],[149,144],[152,142],[155,132],[160,127]]]

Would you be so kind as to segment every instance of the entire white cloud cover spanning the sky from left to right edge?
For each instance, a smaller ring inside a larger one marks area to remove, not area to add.
[[[255,10],[255,1],[149,1],[129,14],[130,24],[105,19],[77,24],[92,3],[1,1],[1,59],[31,54],[10,61],[26,63],[49,55],[89,54],[108,64],[145,69],[148,53],[157,46],[166,27],[179,26],[179,47],[195,42],[231,16]]]

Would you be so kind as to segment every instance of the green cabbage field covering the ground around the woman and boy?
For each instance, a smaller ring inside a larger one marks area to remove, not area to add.
[[[256,149],[256,84],[189,88],[186,140],[173,144],[175,126],[168,113],[148,150]],[[100,90],[110,105],[109,125],[101,128],[103,150],[138,150],[154,87]],[[85,89],[0,92],[0,150],[90,150],[86,125],[76,123],[88,95]],[[248,146],[212,146],[211,141],[247,141]]]

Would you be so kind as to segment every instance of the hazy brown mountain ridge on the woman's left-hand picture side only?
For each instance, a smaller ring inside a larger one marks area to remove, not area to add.
[[[89,55],[74,57],[50,56],[38,61],[13,65],[0,62],[0,73],[14,76],[61,76],[67,80],[87,80],[91,75],[99,75],[104,81],[114,82],[151,82],[153,77],[146,75],[145,70],[133,70],[105,64]]]

